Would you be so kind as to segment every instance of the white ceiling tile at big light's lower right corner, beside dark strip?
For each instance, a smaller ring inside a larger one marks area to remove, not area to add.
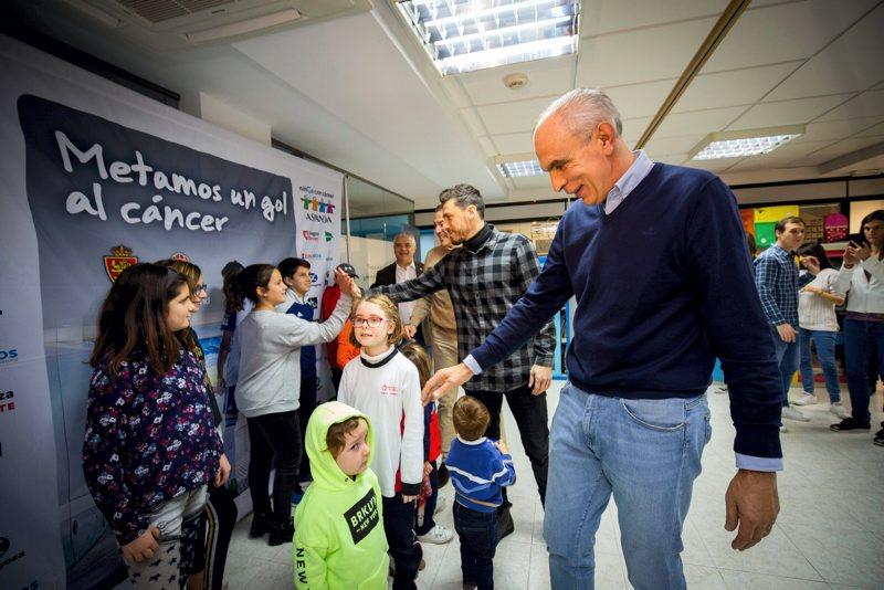
[[[577,84],[609,87],[678,77],[715,21],[702,19],[581,39]]]

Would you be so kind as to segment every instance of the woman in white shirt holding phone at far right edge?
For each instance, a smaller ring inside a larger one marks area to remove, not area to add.
[[[884,367],[884,209],[863,218],[862,235],[844,251],[844,263],[835,280],[836,293],[846,293],[844,316],[844,357],[851,414],[830,428],[838,432],[867,431],[870,391],[866,383],[869,351],[875,347],[880,367]],[[875,433],[875,444],[884,446],[884,428]]]

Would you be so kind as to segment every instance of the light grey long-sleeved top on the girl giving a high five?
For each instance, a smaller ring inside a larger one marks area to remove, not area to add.
[[[322,324],[254,309],[242,320],[236,328],[241,349],[236,407],[246,418],[298,409],[301,347],[337,338],[350,304],[350,296],[341,294],[332,317]]]

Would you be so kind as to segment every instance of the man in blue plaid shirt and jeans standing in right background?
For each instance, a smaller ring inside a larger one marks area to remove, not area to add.
[[[777,349],[777,361],[782,377],[782,418],[810,421],[797,408],[789,405],[789,386],[798,370],[798,289],[813,281],[808,273],[799,278],[792,252],[804,239],[801,218],[787,217],[774,228],[777,243],[755,259],[755,286],[761,299]],[[785,432],[786,428],[780,428]]]

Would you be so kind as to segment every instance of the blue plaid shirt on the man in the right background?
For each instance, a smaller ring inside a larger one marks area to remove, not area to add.
[[[774,244],[753,262],[755,287],[761,308],[772,326],[789,324],[798,329],[798,289],[813,281],[808,274],[799,278],[791,254]]]

